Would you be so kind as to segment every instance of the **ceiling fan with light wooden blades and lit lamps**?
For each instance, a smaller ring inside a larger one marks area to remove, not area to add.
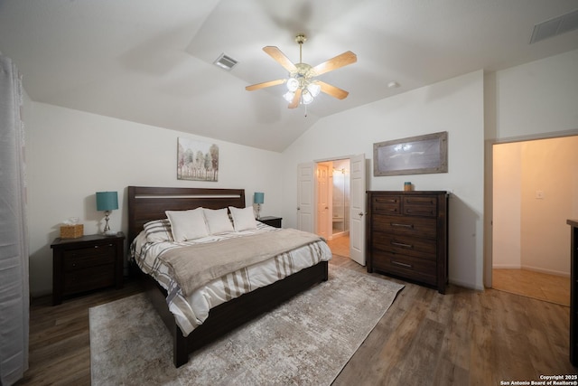
[[[357,55],[350,51],[343,52],[331,58],[329,61],[323,61],[321,64],[312,67],[307,63],[303,63],[302,59],[303,42],[306,40],[307,37],[304,34],[298,34],[295,37],[295,42],[299,43],[299,62],[296,64],[290,61],[277,47],[270,45],[263,47],[263,51],[281,64],[286,71],[289,71],[289,78],[257,83],[247,86],[245,89],[247,89],[247,91],[253,91],[286,83],[288,91],[284,94],[284,99],[289,102],[289,108],[296,108],[300,103],[303,103],[303,105],[310,104],[320,92],[324,92],[337,99],[347,98],[349,94],[348,91],[331,86],[331,84],[325,83],[322,80],[316,80],[315,77],[325,72],[337,70],[348,64],[355,63],[358,61]]]

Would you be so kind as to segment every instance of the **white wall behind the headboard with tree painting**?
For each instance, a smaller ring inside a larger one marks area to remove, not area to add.
[[[264,192],[262,214],[281,211],[281,155],[187,133],[32,103],[25,118],[33,297],[51,292],[50,245],[61,221],[76,216],[85,234],[102,230],[95,193],[117,191],[119,208],[112,229],[127,230],[126,186],[244,188],[247,205]],[[194,125],[194,122],[191,122]],[[176,179],[177,138],[219,145],[219,182]]]

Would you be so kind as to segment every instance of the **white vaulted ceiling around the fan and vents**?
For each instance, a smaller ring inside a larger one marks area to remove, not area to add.
[[[0,52],[34,101],[283,151],[318,119],[484,69],[578,49],[578,31],[529,44],[535,24],[577,0],[0,0]],[[289,109],[286,71],[262,48],[311,65],[352,51],[320,77],[350,91]],[[232,71],[212,64],[221,53]],[[391,81],[400,87],[390,89]]]

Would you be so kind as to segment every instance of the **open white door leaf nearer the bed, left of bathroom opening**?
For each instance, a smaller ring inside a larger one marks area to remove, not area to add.
[[[315,164],[297,165],[297,229],[315,232]]]

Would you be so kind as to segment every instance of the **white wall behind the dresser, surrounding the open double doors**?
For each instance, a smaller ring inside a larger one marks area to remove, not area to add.
[[[449,173],[373,177],[368,189],[446,190],[450,200],[450,281],[482,285],[483,223],[483,73],[475,71],[432,86],[324,118],[284,151],[283,216],[296,225],[297,165],[364,153],[370,160],[376,142],[448,132]]]

